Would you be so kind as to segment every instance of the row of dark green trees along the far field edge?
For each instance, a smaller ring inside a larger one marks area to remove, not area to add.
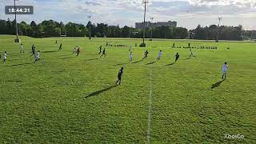
[[[159,26],[155,28],[146,28],[146,38],[168,38],[168,39],[202,39],[214,40],[217,38],[219,30],[219,39],[221,40],[243,40],[251,38],[252,31],[242,29],[242,26],[206,26],[198,25],[194,30],[187,30],[183,27]],[[89,32],[90,31],[90,32]],[[0,19],[0,34],[16,34],[15,21]],[[18,34],[33,38],[48,37],[91,37],[93,38],[142,38],[143,30],[135,29],[129,26],[109,26],[105,23],[91,23],[87,25],[68,22],[55,22],[54,20],[43,21],[30,24],[26,22],[18,23]],[[256,34],[254,34],[255,37]]]

